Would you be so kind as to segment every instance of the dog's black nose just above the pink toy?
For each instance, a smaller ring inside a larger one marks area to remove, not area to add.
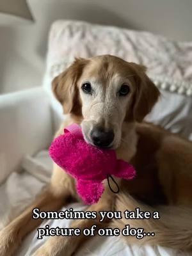
[[[97,147],[107,148],[112,143],[114,139],[113,131],[104,131],[100,128],[95,128],[91,133],[93,144]]]

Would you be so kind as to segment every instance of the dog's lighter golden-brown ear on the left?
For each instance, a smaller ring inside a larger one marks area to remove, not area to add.
[[[82,115],[77,81],[87,61],[82,58],[76,59],[67,70],[55,77],[52,81],[52,92],[63,106],[63,111],[66,114]]]

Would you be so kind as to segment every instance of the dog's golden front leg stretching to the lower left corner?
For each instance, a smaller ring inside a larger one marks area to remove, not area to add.
[[[39,208],[40,211],[59,210],[67,201],[68,196],[72,195],[72,191],[75,191],[73,184],[72,178],[56,166],[49,187],[26,211],[1,230],[0,256],[14,255],[24,237],[42,223],[40,218],[36,220],[32,218],[34,208]]]

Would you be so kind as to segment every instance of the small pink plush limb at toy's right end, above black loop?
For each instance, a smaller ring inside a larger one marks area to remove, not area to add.
[[[131,164],[118,159],[116,162],[115,173],[113,173],[113,175],[122,179],[133,179],[136,175],[136,171]]]

